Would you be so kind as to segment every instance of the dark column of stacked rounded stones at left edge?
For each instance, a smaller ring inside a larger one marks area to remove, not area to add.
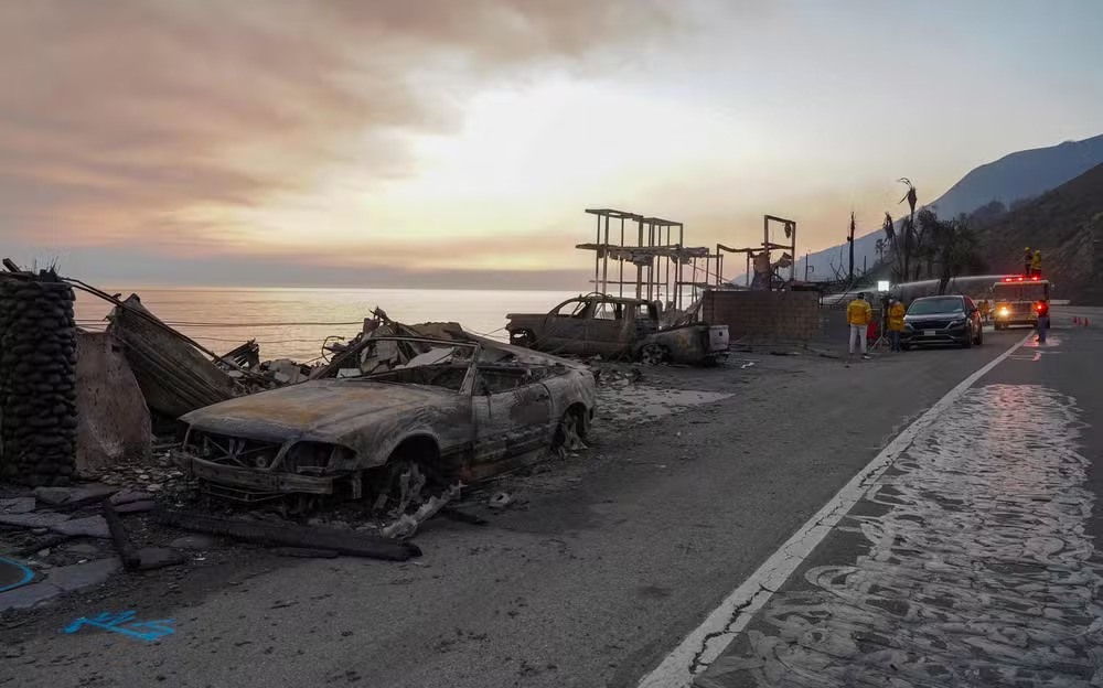
[[[53,271],[0,275],[0,479],[68,482],[76,456],[73,289]]]

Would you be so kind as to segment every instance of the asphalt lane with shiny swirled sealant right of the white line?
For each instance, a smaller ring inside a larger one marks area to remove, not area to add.
[[[1099,686],[1103,331],[1071,326],[1085,313],[921,432],[696,685]]]

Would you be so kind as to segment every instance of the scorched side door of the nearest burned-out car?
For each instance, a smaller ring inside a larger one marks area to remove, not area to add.
[[[474,452],[472,480],[500,473],[512,460],[548,442],[552,396],[522,366],[479,366],[472,395]]]

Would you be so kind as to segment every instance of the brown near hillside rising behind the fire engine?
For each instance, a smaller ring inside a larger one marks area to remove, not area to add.
[[[1020,272],[1022,248],[1041,249],[1054,298],[1103,304],[1103,164],[977,227],[977,243],[996,272]]]

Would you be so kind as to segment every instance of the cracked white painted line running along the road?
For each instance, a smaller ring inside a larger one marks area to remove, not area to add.
[[[973,373],[951,389],[934,406],[920,416],[903,432],[881,450],[872,461],[808,519],[793,537],[773,552],[739,588],[716,608],[663,659],[662,664],[640,681],[639,688],[686,688],[694,677],[708,668],[756,612],[770,600],[778,588],[812,553],[821,540],[850,510],[877,480],[896,461],[915,437],[954,404],[976,380],[1004,362],[1034,336],[1031,332],[994,361]]]

